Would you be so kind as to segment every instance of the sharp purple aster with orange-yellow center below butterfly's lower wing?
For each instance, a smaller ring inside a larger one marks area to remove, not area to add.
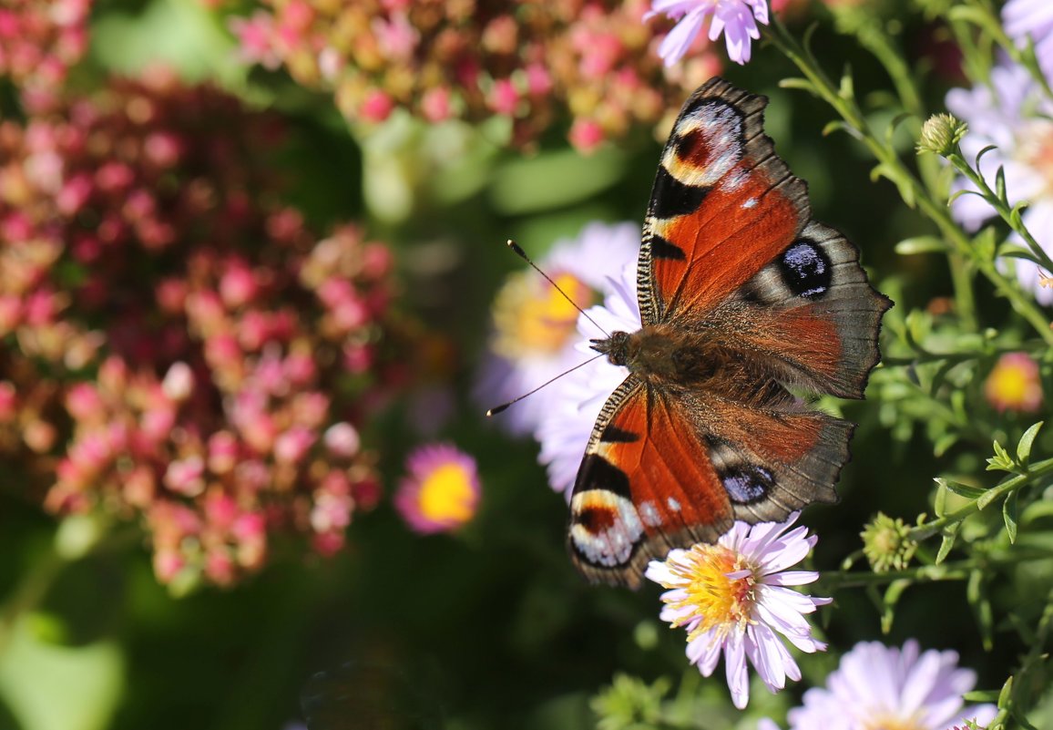
[[[786,687],[787,677],[800,679],[782,637],[808,653],[827,648],[812,637],[804,614],[831,599],[789,588],[819,577],[814,571],[787,570],[816,542],[808,528],[790,530],[797,514],[786,522],[736,522],[713,545],[671,550],[664,560],[648,566],[647,577],[671,589],[661,596],[662,620],[688,630],[688,658],[704,676],[723,654],[728,688],[739,709],[750,699],[747,663],[772,692]]]

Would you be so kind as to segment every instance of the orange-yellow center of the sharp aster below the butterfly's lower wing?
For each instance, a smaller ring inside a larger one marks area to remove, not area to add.
[[[696,545],[684,556],[682,563],[670,561],[670,569],[684,579],[681,585],[687,596],[671,604],[675,609],[690,609],[686,616],[674,626],[701,618],[697,627],[688,635],[694,639],[711,629],[721,632],[735,627],[743,627],[752,620],[755,603],[752,570],[743,577],[728,577],[729,573],[750,570],[746,559],[734,550],[721,545]]]

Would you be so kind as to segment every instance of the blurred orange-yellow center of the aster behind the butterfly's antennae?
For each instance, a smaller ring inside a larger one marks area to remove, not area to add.
[[[595,293],[573,274],[557,272],[553,280],[582,309]],[[494,350],[510,359],[559,352],[574,336],[578,312],[555,287],[534,272],[514,275],[497,295]]]

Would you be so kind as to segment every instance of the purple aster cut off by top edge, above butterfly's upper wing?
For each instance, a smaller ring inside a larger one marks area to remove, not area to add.
[[[683,57],[709,16],[713,16],[710,40],[715,41],[723,33],[728,57],[746,63],[750,60],[750,39],[760,38],[757,22],[768,24],[768,0],[653,0],[643,19],[659,14],[678,21],[658,46],[667,66]]]

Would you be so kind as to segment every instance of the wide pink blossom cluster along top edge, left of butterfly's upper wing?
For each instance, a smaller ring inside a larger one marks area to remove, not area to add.
[[[349,119],[377,122],[398,107],[430,122],[503,117],[517,145],[570,116],[571,142],[592,149],[654,124],[719,70],[704,41],[663,70],[648,0],[262,4],[232,21],[243,57],[332,91]]]

